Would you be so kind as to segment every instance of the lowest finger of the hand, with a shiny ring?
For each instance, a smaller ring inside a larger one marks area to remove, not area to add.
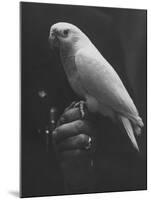
[[[68,137],[57,145],[58,151],[72,150],[72,149],[85,149],[89,145],[89,136],[79,134],[73,137]]]

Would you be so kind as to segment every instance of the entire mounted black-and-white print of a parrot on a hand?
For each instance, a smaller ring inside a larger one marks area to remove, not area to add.
[[[20,3],[21,197],[147,189],[147,11]]]

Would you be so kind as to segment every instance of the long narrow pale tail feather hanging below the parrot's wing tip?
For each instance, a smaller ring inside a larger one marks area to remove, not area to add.
[[[136,138],[134,136],[134,131],[133,131],[133,128],[132,128],[132,125],[131,125],[129,119],[127,119],[126,117],[121,116],[121,115],[119,116],[119,118],[121,119],[121,121],[124,125],[124,128],[127,132],[127,135],[129,136],[133,146],[135,147],[135,149],[137,149],[137,151],[139,151],[139,147],[138,147]]]

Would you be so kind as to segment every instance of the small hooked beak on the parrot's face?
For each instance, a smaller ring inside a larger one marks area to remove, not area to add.
[[[50,30],[48,41],[51,49],[59,47],[59,39],[57,37],[57,32],[55,30]]]

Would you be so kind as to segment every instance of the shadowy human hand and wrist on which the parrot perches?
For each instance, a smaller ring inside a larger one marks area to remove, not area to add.
[[[92,189],[95,138],[96,130],[88,111],[81,119],[78,107],[72,104],[66,108],[53,131],[53,141],[67,190]]]

